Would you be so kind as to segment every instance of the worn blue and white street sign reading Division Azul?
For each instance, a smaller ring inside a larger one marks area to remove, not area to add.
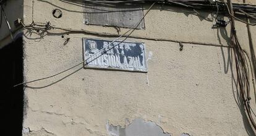
[[[144,43],[109,43],[111,40],[83,38],[85,67],[147,72]]]

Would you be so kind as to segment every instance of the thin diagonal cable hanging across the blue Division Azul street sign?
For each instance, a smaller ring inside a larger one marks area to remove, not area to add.
[[[103,54],[104,54],[104,53],[105,53],[104,50],[105,50],[106,48],[108,48],[109,45],[111,45],[111,44],[114,43],[115,41],[119,40],[120,38],[122,38],[122,36],[126,35],[127,33],[130,32],[130,30],[132,30],[132,31],[126,36],[126,38],[125,38],[124,40],[122,40],[120,43],[124,42],[124,41],[129,37],[129,35],[131,35],[131,34],[134,32],[135,28],[137,28],[137,27],[140,25],[140,23],[141,23],[142,20],[145,18],[145,16],[148,14],[148,12],[151,10],[151,8],[154,6],[154,4],[155,4],[155,2],[154,2],[153,4],[151,4],[151,6],[148,8],[148,11],[145,13],[145,15],[143,15],[143,17],[139,20],[139,22],[135,23],[126,33],[122,34],[121,36],[119,36],[119,37],[116,38],[115,40],[111,41],[111,43],[109,43],[105,48],[100,49],[100,50],[99,50],[98,52],[96,52],[95,54],[100,53],[101,51],[103,51]],[[119,43],[119,44],[120,44],[120,43]],[[117,46],[117,45],[116,45],[116,46]],[[113,46],[112,48],[114,48],[114,46]],[[51,78],[51,77],[55,77],[56,75],[62,74],[62,73],[66,72],[66,71],[68,71],[68,70],[70,70],[70,69],[73,69],[73,68],[79,66],[80,64],[83,64],[84,62],[86,62],[86,63],[85,63],[85,65],[86,65],[86,64],[88,64],[87,60],[89,60],[90,58],[92,58],[95,54],[93,54],[92,56],[88,57],[87,59],[85,59],[84,61],[80,62],[79,64],[76,64],[75,66],[70,67],[69,69],[66,69],[66,70],[63,70],[63,71],[61,71],[61,72],[58,72],[57,74],[50,75],[50,76],[48,76],[48,77],[44,77],[44,78],[41,78],[41,79],[36,79],[36,80],[28,81],[28,82],[19,83],[19,84],[17,84],[17,85],[14,85],[14,87],[17,87],[17,86],[19,86],[19,85],[25,85],[25,84],[27,84],[27,83],[32,83],[32,82],[40,81],[40,80],[49,79],[49,78]],[[102,55],[102,54],[101,54],[101,55]]]

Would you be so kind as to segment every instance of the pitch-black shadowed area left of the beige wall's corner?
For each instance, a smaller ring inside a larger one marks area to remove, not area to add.
[[[23,43],[18,38],[0,49],[1,135],[22,135],[23,122]]]

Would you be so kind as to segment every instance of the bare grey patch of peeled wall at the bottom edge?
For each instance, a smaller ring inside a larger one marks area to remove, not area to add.
[[[155,122],[144,121],[143,119],[135,119],[124,128],[120,125],[109,125],[109,122],[107,122],[106,129],[110,136],[171,136],[168,133],[164,133],[163,129],[159,125],[156,125]]]

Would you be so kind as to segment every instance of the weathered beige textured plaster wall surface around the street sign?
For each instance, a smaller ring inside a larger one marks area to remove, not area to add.
[[[149,5],[144,7],[146,12]],[[63,12],[60,19],[52,15],[56,8]],[[82,8],[77,1],[26,0],[24,22],[50,21],[56,27],[117,33],[112,27],[85,25]],[[129,38],[145,43],[147,74],[80,65],[52,79],[29,83],[23,135],[115,135],[114,126],[132,127],[135,119],[152,121],[171,135],[254,135],[244,110],[236,104],[234,58],[232,49],[226,48],[229,25],[212,29],[213,24],[187,9],[154,6],[145,17],[145,30],[132,35],[205,45],[184,43],[179,51],[176,42]],[[246,25],[236,25],[241,45],[249,51]],[[121,28],[121,33],[126,30]],[[27,81],[82,62],[83,37],[103,38],[50,32],[42,36],[24,30]],[[70,40],[64,45],[66,38]]]

